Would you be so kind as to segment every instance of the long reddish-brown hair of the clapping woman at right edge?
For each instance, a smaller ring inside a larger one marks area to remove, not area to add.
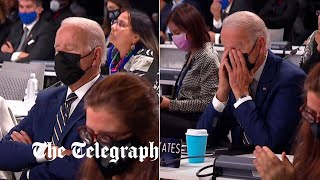
[[[320,64],[308,74],[304,90],[305,93],[313,92],[320,97]],[[320,141],[313,136],[305,120],[301,122],[295,144],[293,165],[297,179],[319,179]]]

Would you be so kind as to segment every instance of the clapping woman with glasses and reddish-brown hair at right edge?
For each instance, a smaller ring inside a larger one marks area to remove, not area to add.
[[[262,179],[319,179],[320,177],[320,65],[305,81],[305,104],[300,108],[302,122],[298,131],[293,164],[282,153],[282,161],[268,147],[257,146],[254,165]]]

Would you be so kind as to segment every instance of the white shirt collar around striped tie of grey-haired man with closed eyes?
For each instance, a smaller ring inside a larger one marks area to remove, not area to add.
[[[79,104],[79,102],[81,101],[81,99],[83,98],[83,96],[87,93],[87,91],[91,88],[91,86],[93,86],[93,84],[98,80],[99,77],[100,77],[100,74],[97,75],[95,78],[93,78],[91,81],[87,82],[86,84],[84,84],[83,86],[81,86],[80,88],[78,88],[77,90],[74,91],[74,93],[76,93],[76,95],[78,96],[78,98],[71,104],[69,117],[71,116],[71,114],[73,113],[73,111],[76,109],[77,105]],[[72,91],[71,91],[71,89],[68,87],[66,100],[67,100],[67,97],[68,97],[71,93],[72,93]]]

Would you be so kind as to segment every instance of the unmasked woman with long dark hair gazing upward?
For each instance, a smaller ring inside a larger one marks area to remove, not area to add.
[[[159,45],[150,18],[130,9],[113,21],[109,35],[106,74],[132,72],[147,78],[152,84],[158,79]]]

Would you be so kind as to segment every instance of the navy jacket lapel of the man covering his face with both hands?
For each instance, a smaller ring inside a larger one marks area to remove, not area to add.
[[[275,55],[269,51],[268,52],[268,58],[266,59],[265,67],[262,71],[261,78],[258,83],[256,97],[255,97],[255,103],[257,107],[260,107],[261,104],[264,102],[269,89],[272,85],[272,80],[274,79],[274,76],[276,75],[276,65],[277,61],[275,59]]]

